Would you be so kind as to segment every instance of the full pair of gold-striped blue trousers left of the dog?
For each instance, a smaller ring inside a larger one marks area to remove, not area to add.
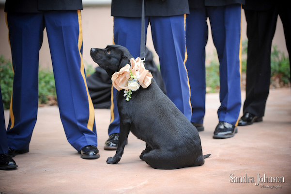
[[[94,108],[82,60],[81,12],[7,13],[7,24],[15,73],[8,146],[26,149],[31,141],[38,108],[39,50],[45,28],[67,140],[78,151],[83,146],[97,146]]]

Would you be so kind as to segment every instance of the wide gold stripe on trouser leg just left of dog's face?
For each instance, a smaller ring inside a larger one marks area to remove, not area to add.
[[[89,94],[88,86],[87,86],[87,81],[86,81],[86,76],[85,76],[85,68],[84,68],[84,63],[83,63],[83,57],[81,53],[81,47],[83,44],[83,32],[82,32],[82,20],[81,20],[81,10],[78,10],[78,21],[79,21],[79,39],[78,39],[78,49],[79,49],[79,54],[81,58],[81,67],[80,71],[86,86],[86,91],[87,91],[87,97],[88,97],[88,103],[89,103],[89,119],[87,123],[87,128],[90,130],[93,130],[94,126],[94,107],[92,103],[92,99]]]

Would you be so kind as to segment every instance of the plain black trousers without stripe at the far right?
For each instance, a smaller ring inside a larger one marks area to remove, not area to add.
[[[248,49],[244,113],[264,116],[270,88],[272,40],[278,15],[283,23],[287,50],[290,53],[290,6],[277,5],[267,11],[245,10]]]

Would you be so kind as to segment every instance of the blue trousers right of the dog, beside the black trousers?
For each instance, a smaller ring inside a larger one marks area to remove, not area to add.
[[[209,17],[220,72],[219,121],[237,125],[241,108],[241,5],[191,8],[186,18],[186,67],[191,86],[193,123],[203,123],[205,115],[205,46]]]

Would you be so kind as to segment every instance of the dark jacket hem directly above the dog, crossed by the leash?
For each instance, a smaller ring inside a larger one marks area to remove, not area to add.
[[[144,0],[145,16],[189,14],[188,0]],[[142,0],[112,0],[111,16],[140,17]]]

